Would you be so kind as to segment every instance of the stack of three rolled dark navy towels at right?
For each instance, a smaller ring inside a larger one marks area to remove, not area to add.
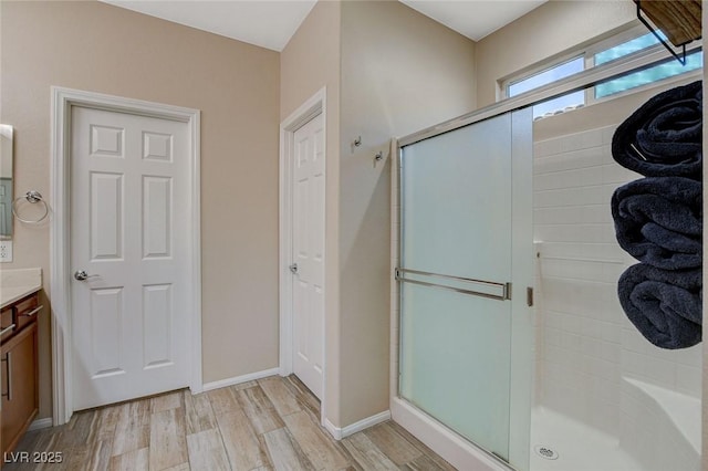
[[[694,346],[702,324],[702,82],[642,105],[615,130],[612,155],[646,177],[612,197],[617,242],[642,262],[620,276],[620,303],[652,344]]]

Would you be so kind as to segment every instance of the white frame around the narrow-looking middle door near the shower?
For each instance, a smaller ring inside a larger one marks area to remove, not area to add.
[[[292,283],[293,278],[290,272],[290,264],[293,261],[292,239],[293,239],[293,188],[292,177],[294,175],[293,158],[295,155],[294,136],[295,130],[301,128],[305,123],[311,121],[317,115],[322,115],[322,126],[324,130],[324,149],[325,149],[325,188],[326,188],[326,87],[321,88],[306,102],[304,102],[298,109],[292,112],[280,124],[280,205],[279,205],[279,219],[280,219],[280,255],[279,255],[279,297],[280,297],[280,376],[288,376],[293,373],[293,305],[292,305]],[[326,190],[325,190],[326,198]],[[325,211],[325,232],[326,232],[326,211]],[[326,271],[326,238],[325,241],[325,271]],[[324,276],[324,296],[326,299],[326,273]],[[326,311],[324,316],[324,327],[326,327]],[[325,414],[325,398],[326,398],[326,328],[324,328],[325,336],[323,338],[323,364],[322,364],[322,398],[321,398],[321,422],[324,425]]]

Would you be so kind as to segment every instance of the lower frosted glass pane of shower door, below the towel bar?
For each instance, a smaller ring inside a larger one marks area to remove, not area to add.
[[[510,303],[409,283],[402,294],[400,396],[508,459]]]

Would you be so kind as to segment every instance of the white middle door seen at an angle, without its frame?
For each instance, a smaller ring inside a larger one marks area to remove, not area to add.
[[[324,362],[324,129],[322,115],[294,133],[293,371],[319,398]]]

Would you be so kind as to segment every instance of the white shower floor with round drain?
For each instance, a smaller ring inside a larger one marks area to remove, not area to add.
[[[541,458],[537,446],[558,453]],[[531,412],[531,471],[642,471],[642,467],[620,448],[618,440],[576,420],[534,407]]]

